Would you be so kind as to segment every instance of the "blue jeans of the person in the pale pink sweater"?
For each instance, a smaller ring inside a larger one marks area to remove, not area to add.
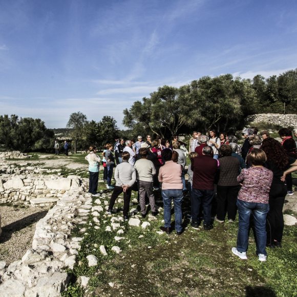
[[[177,232],[182,231],[182,211],[181,203],[183,199],[182,189],[162,190],[163,207],[164,207],[164,227],[171,227],[171,201],[174,205],[175,229]]]

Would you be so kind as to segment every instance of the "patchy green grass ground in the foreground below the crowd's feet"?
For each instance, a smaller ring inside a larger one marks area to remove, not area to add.
[[[106,193],[106,189],[101,187]],[[136,195],[134,195],[134,198]],[[119,197],[122,198],[122,197]],[[156,195],[162,207],[160,194]],[[109,195],[101,199],[109,201]],[[119,209],[122,203],[116,204]],[[136,208],[137,203],[133,206]],[[185,197],[184,214],[189,209],[189,198]],[[296,215],[296,214],[295,214]],[[283,248],[268,250],[267,262],[260,262],[256,255],[256,244],[249,239],[248,260],[234,256],[231,248],[236,246],[238,221],[214,223],[214,229],[190,227],[184,219],[185,232],[177,236],[157,234],[163,225],[162,210],[156,221],[150,221],[147,229],[131,227],[121,223],[123,234],[117,230],[105,231],[113,216],[98,218],[99,229],[95,229],[92,216],[84,226],[77,227],[73,236],[86,233],[78,254],[74,270],[73,285],[63,296],[294,296],[297,292],[296,226],[285,227]],[[174,215],[173,218],[174,220]],[[147,218],[141,221],[147,221]],[[114,237],[123,237],[119,242]],[[99,246],[104,245],[108,256],[102,256]],[[121,248],[120,254],[111,251],[112,246]],[[86,257],[94,254],[99,259],[97,267],[88,267]],[[90,277],[90,288],[82,290],[74,282],[80,276]],[[112,284],[109,284],[112,283]]]

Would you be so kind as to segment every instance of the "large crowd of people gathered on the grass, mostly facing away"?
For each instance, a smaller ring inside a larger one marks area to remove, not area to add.
[[[297,129],[293,131],[297,137]],[[240,259],[247,259],[249,228],[254,230],[257,254],[266,261],[266,247],[282,246],[284,229],[283,204],[286,195],[293,195],[291,173],[297,170],[296,142],[292,132],[279,131],[282,142],[271,138],[268,131],[258,134],[257,129],[242,131],[243,145],[235,136],[208,135],[193,132],[186,143],[176,135],[172,140],[137,141],[117,139],[115,145],[108,143],[102,159],[96,147],[90,146],[86,157],[89,161],[89,193],[97,193],[99,165],[102,164],[103,179],[112,189],[107,210],[112,214],[117,197],[123,193],[123,217],[128,220],[132,190],[138,192],[142,218],[145,218],[149,203],[153,216],[159,214],[155,193],[161,188],[164,209],[164,226],[167,234],[173,230],[171,223],[172,202],[175,213],[175,230],[183,230],[182,202],[190,197],[190,225],[210,230],[213,222],[233,223],[238,213],[239,230],[237,247],[232,252]],[[114,153],[112,152],[114,151]],[[190,163],[186,170],[186,155]],[[116,184],[112,185],[113,169]],[[186,182],[185,174],[188,175]]]

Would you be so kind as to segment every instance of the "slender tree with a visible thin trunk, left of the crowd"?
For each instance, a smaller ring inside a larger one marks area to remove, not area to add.
[[[77,142],[83,138],[84,125],[87,123],[87,116],[81,112],[72,113],[66,127],[71,128],[71,136],[74,139],[74,152],[77,152]]]

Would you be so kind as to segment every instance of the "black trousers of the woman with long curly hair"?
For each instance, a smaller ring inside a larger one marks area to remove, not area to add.
[[[269,192],[269,211],[266,218],[267,244],[274,240],[282,241],[284,231],[283,206],[287,195],[285,184],[271,184]]]

